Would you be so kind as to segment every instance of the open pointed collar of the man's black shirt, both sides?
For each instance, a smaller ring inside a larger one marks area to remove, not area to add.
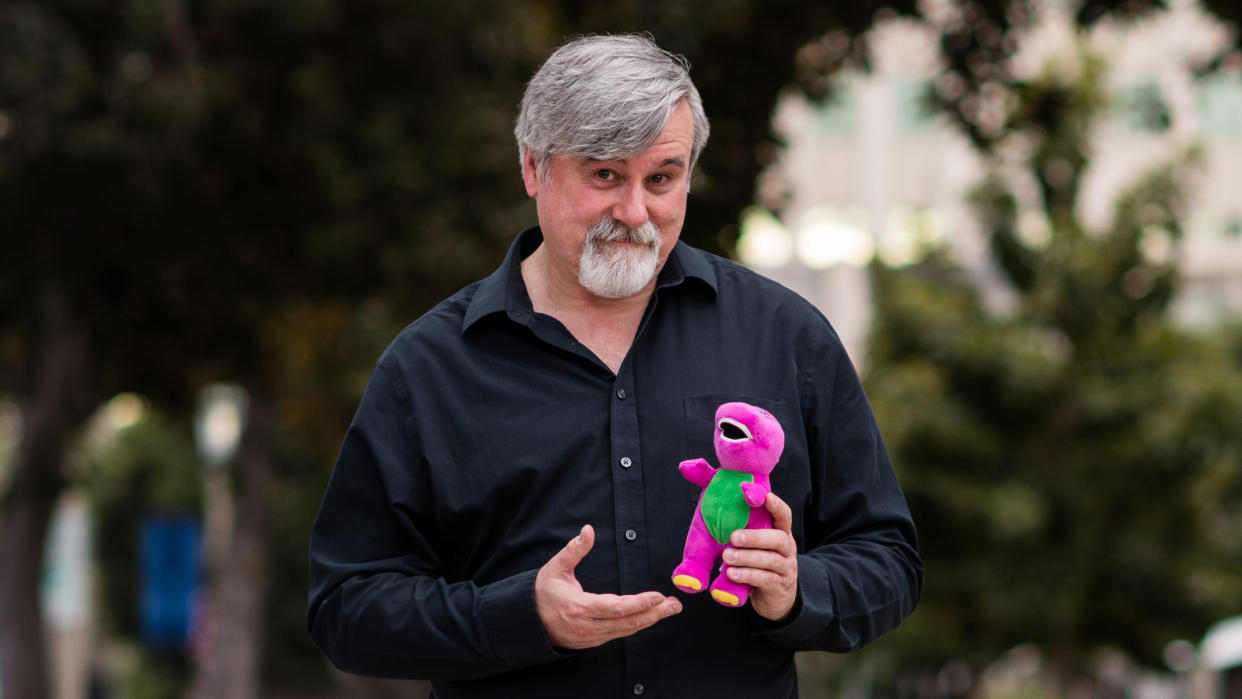
[[[509,246],[508,255],[504,256],[504,262],[478,283],[462,319],[462,333],[493,313],[504,313],[523,325],[530,323],[534,308],[527,293],[527,284],[522,279],[522,261],[542,242],[543,232],[539,231],[539,226],[530,226],[518,233]],[[710,288],[713,298],[715,297],[715,268],[708,262],[707,253],[677,241],[664,262],[664,268],[660,271],[656,291],[681,286],[687,279],[698,279]]]

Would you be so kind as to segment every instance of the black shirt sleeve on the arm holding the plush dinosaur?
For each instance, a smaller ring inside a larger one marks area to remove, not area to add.
[[[831,328],[802,377],[811,498],[795,615],[760,633],[795,649],[851,652],[900,626],[923,592],[905,498],[858,374]],[[807,355],[804,355],[807,356]],[[799,533],[795,533],[799,534]]]

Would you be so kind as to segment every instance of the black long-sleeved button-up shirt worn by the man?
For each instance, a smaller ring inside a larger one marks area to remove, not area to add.
[[[348,672],[457,697],[795,697],[794,651],[851,651],[918,602],[914,525],[858,376],[792,292],[678,243],[614,375],[534,313],[524,231],[491,277],[406,328],[376,364],[310,539],[308,626]],[[796,615],[676,591],[722,402],[786,433]],[[677,593],[682,613],[599,648],[544,636],[534,577],[582,524],[590,592]]]

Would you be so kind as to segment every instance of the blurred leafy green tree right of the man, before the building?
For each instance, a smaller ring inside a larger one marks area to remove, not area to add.
[[[874,268],[867,385],[929,570],[893,647],[933,667],[1033,642],[1068,687],[1093,649],[1160,667],[1167,642],[1236,611],[1242,374],[1167,315],[1196,154],[1088,230],[1103,70],[1087,55],[1009,78],[1004,123],[980,132],[991,288],[946,250]]]

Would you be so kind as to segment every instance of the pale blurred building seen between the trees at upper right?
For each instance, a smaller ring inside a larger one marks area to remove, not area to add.
[[[1081,216],[1090,227],[1107,226],[1118,192],[1136,175],[1201,145],[1202,171],[1184,222],[1184,283],[1174,303],[1177,319],[1201,327],[1242,309],[1242,57],[1235,53],[1196,79],[1194,68],[1220,58],[1230,36],[1197,4],[1169,5],[1134,24],[1102,22],[1087,37],[1109,62],[1114,106],[1094,140]],[[1018,74],[1037,73],[1049,60],[1072,63],[1077,55],[1068,15],[1058,15],[1056,2],[1045,7],[1048,16],[1013,57]],[[959,132],[923,107],[940,73],[934,30],[888,21],[872,32],[871,48],[872,71],[841,77],[828,104],[794,94],[780,104],[775,128],[787,148],[758,196],[781,219],[761,209],[748,214],[738,250],[744,262],[816,303],[856,361],[864,359],[864,267],[873,255],[900,264],[920,243],[951,240],[984,288],[1002,292],[987,283],[995,271],[966,204],[982,163]],[[1149,253],[1176,252],[1165,247]]]

